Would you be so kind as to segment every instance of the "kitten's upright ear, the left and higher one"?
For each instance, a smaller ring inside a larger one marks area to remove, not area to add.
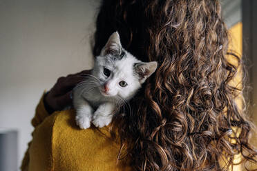
[[[118,32],[113,32],[109,37],[106,45],[102,48],[101,56],[106,54],[121,54],[122,44],[120,43],[120,35]]]

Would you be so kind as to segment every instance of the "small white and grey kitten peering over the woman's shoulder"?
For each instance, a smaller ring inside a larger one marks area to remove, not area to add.
[[[130,100],[156,68],[156,61],[139,61],[124,50],[114,32],[96,57],[91,75],[73,90],[79,128],[89,128],[91,121],[99,128],[111,123],[120,102]]]

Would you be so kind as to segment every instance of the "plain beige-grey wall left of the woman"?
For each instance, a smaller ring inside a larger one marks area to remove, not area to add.
[[[98,1],[0,0],[0,128],[19,130],[19,163],[44,90],[91,68]]]

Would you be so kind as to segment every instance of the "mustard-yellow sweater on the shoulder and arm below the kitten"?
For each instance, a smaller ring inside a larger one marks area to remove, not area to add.
[[[22,171],[131,170],[117,165],[120,145],[111,139],[108,127],[80,130],[75,111],[48,114],[44,96],[37,105],[32,141],[21,164]],[[104,134],[102,134],[104,133]]]

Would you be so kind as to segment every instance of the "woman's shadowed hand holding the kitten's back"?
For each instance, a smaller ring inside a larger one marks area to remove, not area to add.
[[[44,97],[44,104],[49,114],[57,110],[63,110],[72,104],[71,93],[78,83],[85,79],[86,74],[91,70],[84,70],[77,74],[69,74],[67,77],[57,79],[55,86]]]

